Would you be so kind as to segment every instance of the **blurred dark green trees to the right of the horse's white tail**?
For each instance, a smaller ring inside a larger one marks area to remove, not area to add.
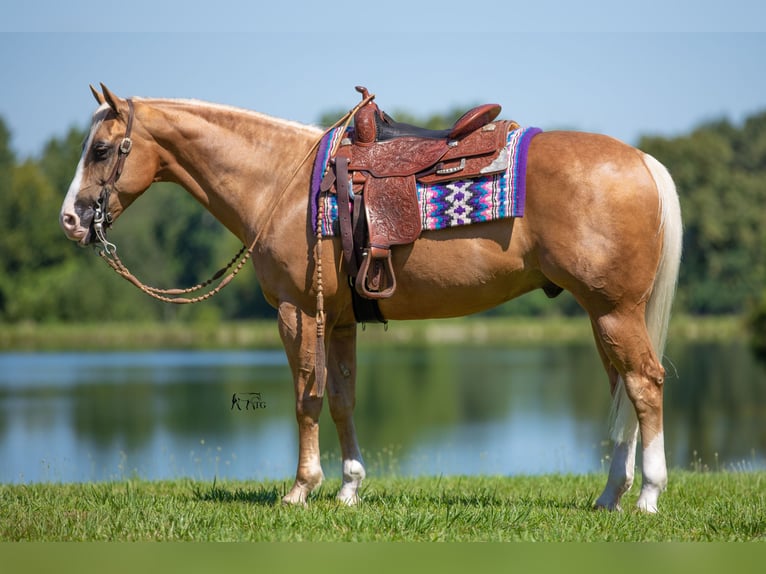
[[[670,170],[681,198],[684,258],[679,301],[694,314],[741,313],[766,268],[766,114],[743,128],[720,121],[690,135],[643,138]]]

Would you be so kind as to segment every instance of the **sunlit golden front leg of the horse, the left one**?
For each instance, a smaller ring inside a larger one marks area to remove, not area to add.
[[[298,470],[295,484],[282,499],[285,504],[305,504],[308,495],[322,483],[319,460],[319,413],[314,376],[316,320],[291,303],[279,305],[279,335],[295,384],[295,417],[298,421]]]

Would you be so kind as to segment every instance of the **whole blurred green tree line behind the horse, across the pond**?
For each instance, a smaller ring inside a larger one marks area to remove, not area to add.
[[[460,110],[400,121],[443,127]],[[340,114],[327,113],[320,123]],[[85,130],[53,137],[38,157],[20,159],[0,117],[0,322],[152,321],[273,317],[252,269],[218,297],[194,306],[149,300],[90,249],[67,241],[58,213],[79,160]],[[670,170],[684,218],[676,313],[750,314],[766,332],[766,111],[741,124],[717,120],[674,137],[644,136],[638,147]],[[209,277],[239,245],[177,186],[156,184],[110,239],[129,267],[158,287]],[[527,295],[488,314],[570,315],[571,297]],[[762,322],[757,318],[763,316]]]

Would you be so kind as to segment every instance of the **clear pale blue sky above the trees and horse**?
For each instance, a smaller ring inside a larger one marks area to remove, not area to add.
[[[389,112],[492,101],[525,125],[636,143],[765,110],[765,62],[760,0],[0,7],[0,117],[22,157],[88,124],[91,83],[305,123],[353,106],[362,84]]]

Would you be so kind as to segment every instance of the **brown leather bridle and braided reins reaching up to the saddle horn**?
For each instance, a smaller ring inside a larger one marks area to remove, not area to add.
[[[374,97],[375,97],[374,95],[370,95],[367,98],[364,98],[353,109],[347,112],[345,116],[343,116],[340,120],[335,122],[335,124],[333,124],[327,131],[335,129],[341,124],[343,124],[344,127],[347,127],[348,124],[351,122],[351,119],[353,118],[354,114],[357,112],[357,110],[359,110],[363,105],[371,101]],[[231,261],[229,261],[224,267],[219,269],[207,281],[199,283],[198,285],[195,285],[193,287],[178,288],[178,289],[159,289],[157,287],[151,287],[149,285],[146,285],[140,279],[138,279],[138,277],[136,277],[133,273],[131,273],[128,267],[122,262],[122,260],[117,255],[117,246],[114,243],[111,243],[110,241],[108,241],[106,238],[106,230],[112,223],[112,216],[111,216],[111,213],[109,212],[109,197],[112,193],[112,190],[115,187],[115,184],[120,179],[120,175],[122,174],[122,170],[125,166],[125,160],[127,159],[128,154],[130,153],[130,150],[133,147],[133,141],[130,139],[130,136],[133,129],[133,117],[135,116],[135,109],[133,106],[132,99],[128,98],[127,102],[128,102],[128,120],[127,120],[127,125],[125,128],[125,137],[123,137],[122,142],[120,143],[120,146],[117,150],[117,161],[114,165],[114,168],[112,169],[112,173],[109,176],[109,178],[104,181],[101,188],[101,194],[99,195],[99,198],[96,201],[96,205],[95,205],[95,214],[93,216],[93,230],[96,235],[96,238],[101,244],[98,254],[101,256],[101,258],[104,261],[106,261],[109,264],[109,266],[115,271],[115,273],[117,273],[123,279],[132,283],[138,289],[140,289],[141,291],[143,291],[150,297],[153,297],[154,299],[163,301],[165,303],[174,303],[178,305],[199,303],[200,301],[205,301],[213,297],[217,293],[220,293],[221,290],[223,290],[223,288],[226,287],[231,282],[231,280],[234,279],[234,277],[245,266],[245,263],[247,263],[247,261],[252,256],[253,251],[255,250],[255,246],[258,243],[258,240],[261,238],[261,234],[271,223],[271,219],[274,217],[276,213],[276,208],[279,202],[281,201],[282,197],[284,196],[285,192],[287,191],[290,184],[295,179],[298,172],[304,166],[304,164],[311,158],[311,156],[317,150],[317,148],[319,147],[319,143],[322,141],[322,138],[320,137],[319,140],[317,140],[316,143],[314,143],[311,146],[311,148],[303,157],[301,162],[296,166],[290,179],[287,181],[287,183],[279,192],[279,194],[277,194],[277,196],[275,197],[273,205],[271,206],[271,209],[268,212],[268,217],[266,219],[266,222],[261,227],[260,231],[256,234],[256,237],[253,240],[253,242],[250,244],[250,247],[246,247],[245,245],[243,245],[242,248],[237,252],[237,254],[231,259]],[[322,215],[321,210],[319,215],[321,217]],[[321,228],[321,226],[318,226],[318,228]],[[237,263],[237,261],[239,262]],[[318,283],[317,322],[318,322],[318,331],[319,331],[318,334],[323,335],[324,306],[323,306],[323,294],[322,294],[322,242],[321,242],[321,236],[319,235],[319,233],[317,234],[317,261],[318,261],[318,264],[317,264],[317,283]],[[234,265],[235,263],[236,263],[236,266]],[[227,271],[229,271],[229,269],[231,269],[233,266],[234,268],[232,269],[232,271],[224,277],[224,274]],[[223,277],[223,279],[221,279],[221,277]],[[197,295],[195,297],[182,297],[182,295],[196,293],[197,291],[200,291],[201,289],[205,289],[206,287],[209,287],[211,284],[213,284],[215,281],[219,279],[221,279],[221,281],[218,283],[218,285],[216,285],[214,288],[210,289],[209,291],[207,291],[206,293],[202,295]],[[320,325],[321,327],[319,327]]]

